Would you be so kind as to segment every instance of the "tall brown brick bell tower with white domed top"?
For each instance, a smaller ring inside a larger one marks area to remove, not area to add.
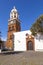
[[[8,20],[8,34],[6,47],[13,50],[13,33],[21,31],[19,14],[17,9],[14,7],[10,12],[10,19]]]

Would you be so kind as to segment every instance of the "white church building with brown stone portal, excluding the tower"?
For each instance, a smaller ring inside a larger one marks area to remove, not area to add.
[[[43,51],[43,36],[31,35],[31,31],[21,31],[14,33],[14,51]]]

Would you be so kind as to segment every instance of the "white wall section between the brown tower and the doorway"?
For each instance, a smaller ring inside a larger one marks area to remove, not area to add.
[[[31,34],[29,30],[14,33],[14,51],[26,51],[26,33]]]

